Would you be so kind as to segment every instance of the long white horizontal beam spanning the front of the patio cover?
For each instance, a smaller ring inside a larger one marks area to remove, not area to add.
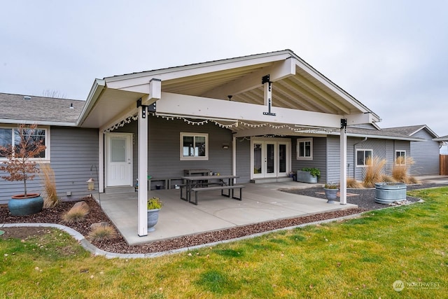
[[[223,118],[260,121],[262,123],[290,123],[312,127],[339,128],[342,116],[314,111],[272,107],[275,116],[264,115],[267,107],[264,105],[208,99],[189,95],[178,95],[162,92],[158,100],[158,113],[195,116],[202,118]]]

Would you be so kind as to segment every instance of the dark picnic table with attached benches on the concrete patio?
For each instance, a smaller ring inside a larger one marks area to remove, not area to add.
[[[220,176],[182,176],[185,184],[181,187],[181,199],[187,202],[197,204],[197,193],[204,190],[221,190],[221,195],[225,197],[232,197],[237,200],[242,199],[242,188],[244,186],[235,186],[234,179],[239,176],[234,175],[220,175]],[[186,188],[186,197],[183,197],[183,188]],[[235,197],[234,190],[239,189],[239,197]],[[227,193],[224,190],[228,190]],[[191,198],[191,193],[195,193],[195,200]]]

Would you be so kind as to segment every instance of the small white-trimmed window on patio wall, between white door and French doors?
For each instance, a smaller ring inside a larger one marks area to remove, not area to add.
[[[181,132],[181,160],[209,160],[209,134]]]

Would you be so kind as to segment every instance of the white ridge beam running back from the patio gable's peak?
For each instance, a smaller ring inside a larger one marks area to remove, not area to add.
[[[288,76],[295,75],[295,63],[296,60],[293,57],[283,60],[282,62],[276,62],[271,67],[265,67],[260,71],[248,74],[239,78],[236,81],[232,81],[219,88],[214,88],[209,92],[205,92],[202,97],[211,97],[214,99],[225,99],[228,95],[238,95],[248,90],[259,88],[261,84],[262,76],[269,74],[269,80],[271,82],[279,81]]]

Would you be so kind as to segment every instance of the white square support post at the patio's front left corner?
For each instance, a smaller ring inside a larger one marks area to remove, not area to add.
[[[148,235],[148,116],[146,106],[139,106],[139,194],[137,203],[137,234]]]

